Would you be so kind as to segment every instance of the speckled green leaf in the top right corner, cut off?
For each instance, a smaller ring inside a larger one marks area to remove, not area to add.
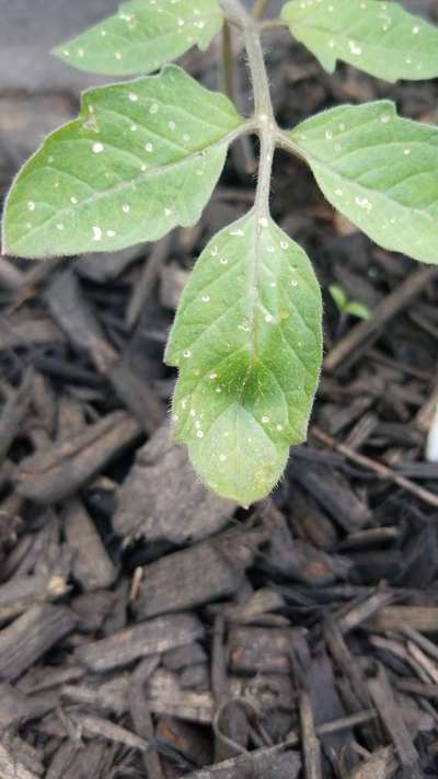
[[[330,73],[341,59],[385,81],[438,76],[438,30],[396,2],[292,0],[281,15]]]

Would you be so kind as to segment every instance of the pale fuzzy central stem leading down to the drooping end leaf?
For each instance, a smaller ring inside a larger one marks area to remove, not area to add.
[[[240,0],[220,0],[220,4],[229,22],[237,24],[242,31],[251,70],[254,93],[255,121],[260,136],[260,169],[255,210],[258,219],[269,216],[269,191],[273,170],[273,158],[276,146],[277,125],[274,118],[270,100],[269,81],[266,72],[257,23],[244,10]]]

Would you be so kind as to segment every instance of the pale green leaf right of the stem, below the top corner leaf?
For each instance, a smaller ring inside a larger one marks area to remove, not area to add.
[[[287,133],[330,203],[384,249],[438,263],[438,129],[389,101],[326,111]]]

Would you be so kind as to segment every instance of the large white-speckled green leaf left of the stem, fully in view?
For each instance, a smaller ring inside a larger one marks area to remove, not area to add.
[[[19,174],[3,251],[114,251],[196,224],[244,127],[224,95],[175,66],[87,92],[79,119],[49,136]]]

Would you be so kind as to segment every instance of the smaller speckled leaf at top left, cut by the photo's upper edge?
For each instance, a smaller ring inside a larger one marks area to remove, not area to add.
[[[195,44],[206,49],[222,22],[217,0],[132,0],[54,54],[95,73],[150,73]]]

